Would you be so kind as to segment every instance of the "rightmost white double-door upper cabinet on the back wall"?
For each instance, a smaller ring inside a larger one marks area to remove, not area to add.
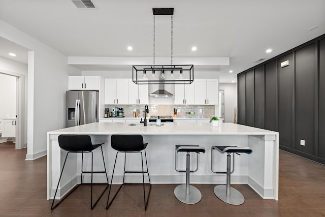
[[[218,105],[219,80],[194,80],[194,105]]]

